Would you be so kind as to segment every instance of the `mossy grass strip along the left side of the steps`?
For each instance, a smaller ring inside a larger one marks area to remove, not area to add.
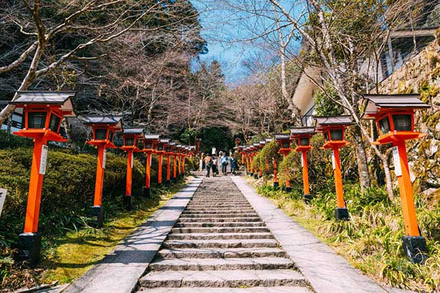
[[[156,196],[153,199],[136,198],[133,201],[133,211],[112,211],[102,228],[89,226],[85,220],[84,226],[67,230],[64,235],[43,235],[39,266],[35,269],[15,267],[8,274],[9,280],[3,280],[8,288],[0,292],[10,292],[23,285],[29,288],[53,281],[58,281],[58,284],[72,283],[111,252],[124,237],[145,222],[185,184],[177,183],[170,189],[155,189]]]

